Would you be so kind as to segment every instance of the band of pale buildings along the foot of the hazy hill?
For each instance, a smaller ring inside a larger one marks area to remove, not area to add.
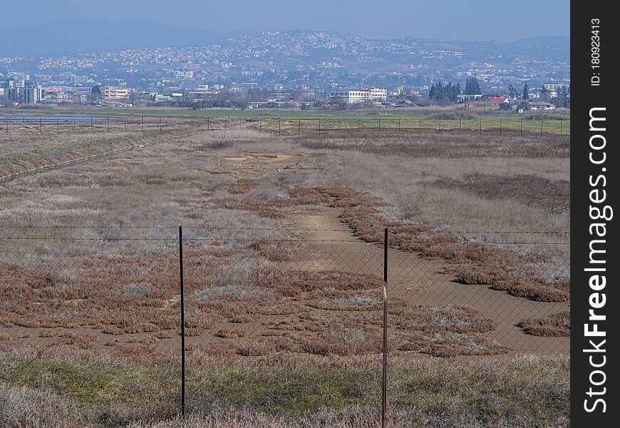
[[[392,91],[388,93],[386,88],[333,88],[325,91],[323,96],[316,94],[314,89],[304,88],[301,90],[286,91],[279,86],[275,91],[263,91],[251,88],[244,91],[243,88],[224,88],[223,86],[199,85],[184,92],[153,93],[138,91],[135,88],[118,88],[105,86],[100,90],[98,97],[93,97],[90,92],[68,91],[63,87],[43,88],[41,83],[30,81],[29,76],[9,78],[0,83],[0,97],[14,104],[19,103],[100,103],[108,106],[135,106],[148,103],[175,103],[183,101],[192,103],[204,101],[209,97],[224,96],[228,94],[234,99],[241,100],[237,106],[244,105],[247,108],[316,108],[316,100],[322,100],[321,106],[326,108],[358,105],[360,106],[414,106],[415,97],[420,97],[419,91],[401,93]],[[253,96],[246,96],[252,91]],[[411,98],[413,96],[413,98]],[[222,98],[223,99],[223,98]],[[488,96],[479,94],[460,93],[456,96],[457,103],[465,103],[467,108],[471,101],[491,101],[497,103],[502,110],[515,110],[519,113],[524,111],[553,110],[557,106],[569,106],[569,86],[557,84],[544,84],[538,91],[532,91],[527,98],[522,95],[496,95]],[[558,102],[562,101],[562,102]]]

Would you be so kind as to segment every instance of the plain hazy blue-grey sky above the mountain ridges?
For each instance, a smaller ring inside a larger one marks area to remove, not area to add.
[[[510,41],[568,36],[567,0],[30,0],[3,1],[0,26],[68,19],[131,21],[210,30],[341,31],[382,39]]]

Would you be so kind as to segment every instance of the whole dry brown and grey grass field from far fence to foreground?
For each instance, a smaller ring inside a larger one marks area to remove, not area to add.
[[[569,142],[3,137],[131,148],[0,182],[0,424],[179,423],[182,225],[187,426],[376,427],[385,228],[392,426],[568,426]]]

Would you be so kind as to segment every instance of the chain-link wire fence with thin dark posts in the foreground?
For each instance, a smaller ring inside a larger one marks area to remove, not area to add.
[[[2,226],[0,355],[15,376],[46,358],[169,367],[153,376],[185,412],[218,358],[383,355],[385,409],[392,358],[569,352],[567,232],[273,231]]]

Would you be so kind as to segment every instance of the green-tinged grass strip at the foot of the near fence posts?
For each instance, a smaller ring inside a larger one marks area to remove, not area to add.
[[[564,364],[418,362],[388,374],[393,409],[435,419],[469,414],[488,426],[553,426],[569,417]],[[47,389],[70,400],[85,424],[118,426],[168,419],[180,403],[180,368],[16,358],[0,360],[0,382]],[[296,419],[319,411],[378,407],[381,370],[189,367],[187,411],[244,409]]]

